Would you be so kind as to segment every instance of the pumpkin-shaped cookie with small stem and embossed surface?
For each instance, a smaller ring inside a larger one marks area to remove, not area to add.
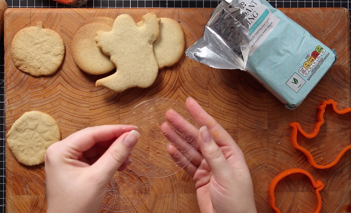
[[[41,21],[37,26],[21,29],[11,43],[13,63],[20,70],[34,76],[51,75],[61,66],[65,56],[65,44],[54,30],[44,29]]]

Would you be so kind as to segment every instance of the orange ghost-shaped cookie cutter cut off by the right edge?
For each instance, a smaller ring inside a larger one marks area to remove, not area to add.
[[[316,137],[316,135],[318,134],[319,132],[319,129],[320,129],[320,126],[324,123],[324,112],[325,112],[325,107],[327,104],[332,104],[333,105],[333,110],[337,113],[337,114],[345,114],[347,112],[350,112],[351,111],[351,108],[344,108],[342,110],[338,110],[337,109],[337,102],[333,101],[332,99],[328,99],[328,100],[325,100],[325,101],[322,101],[320,103],[320,105],[317,107],[318,108],[318,113],[317,113],[317,119],[318,121],[314,124],[314,128],[312,130],[312,132],[309,134],[309,133],[306,133],[300,126],[299,123],[297,122],[292,122],[289,124],[289,126],[291,127],[291,144],[293,145],[293,147],[295,147],[295,149],[298,149],[300,151],[302,151],[309,163],[311,164],[311,166],[313,167],[316,167],[317,169],[327,169],[327,168],[330,168],[332,166],[334,166],[336,163],[338,163],[338,161],[340,160],[340,158],[343,156],[343,154],[351,149],[351,145],[349,146],[346,146],[339,154],[338,156],[335,158],[335,160],[330,163],[330,164],[327,164],[327,165],[318,165],[315,161],[314,161],[314,158],[312,156],[312,154],[306,150],[304,147],[300,146],[298,143],[297,143],[297,132],[300,131],[302,133],[302,135],[304,135],[306,138],[314,138]]]

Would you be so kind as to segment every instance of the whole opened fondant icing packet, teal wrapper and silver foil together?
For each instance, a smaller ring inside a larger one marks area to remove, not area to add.
[[[185,54],[213,68],[246,70],[289,109],[336,60],[334,50],[265,0],[222,0]]]

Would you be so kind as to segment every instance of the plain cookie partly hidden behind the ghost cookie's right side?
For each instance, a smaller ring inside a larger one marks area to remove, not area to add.
[[[170,18],[160,18],[160,36],[153,43],[154,54],[159,69],[172,67],[183,56],[185,36],[183,28],[177,21]],[[138,22],[138,26],[143,21]]]

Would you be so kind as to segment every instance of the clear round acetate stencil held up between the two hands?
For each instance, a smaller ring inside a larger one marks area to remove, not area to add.
[[[175,162],[168,154],[166,145],[170,142],[160,129],[161,124],[166,122],[165,114],[169,109],[178,112],[188,123],[194,125],[195,122],[186,110],[185,104],[166,98],[150,99],[136,105],[128,111],[127,115],[124,115],[124,119],[121,121],[123,124],[139,127],[140,139],[130,156],[132,164],[128,166],[128,169],[138,175],[148,178],[162,178],[183,169],[179,162]],[[197,147],[194,147],[193,143],[194,137],[190,133],[184,132],[182,128],[180,127],[176,132],[183,139],[183,143],[188,143],[196,149]],[[186,154],[187,150],[177,148],[181,153]],[[187,159],[187,163],[190,160],[191,158]]]

